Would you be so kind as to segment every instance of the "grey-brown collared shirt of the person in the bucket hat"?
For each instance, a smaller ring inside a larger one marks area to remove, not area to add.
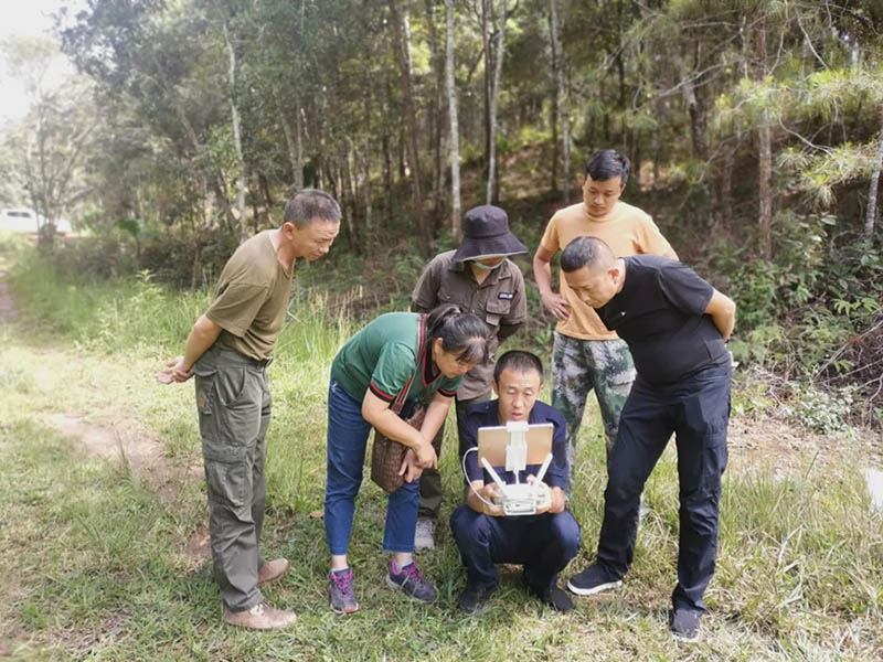
[[[488,324],[491,360],[466,373],[457,391],[458,399],[469,399],[490,391],[493,354],[500,343],[528,319],[528,300],[524,296],[524,276],[511,259],[504,259],[479,285],[467,263],[451,259],[454,253],[440,253],[426,265],[411,293],[411,310],[429,312],[442,303],[456,303]]]

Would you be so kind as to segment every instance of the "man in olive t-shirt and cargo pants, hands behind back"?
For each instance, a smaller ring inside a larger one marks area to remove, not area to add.
[[[258,233],[227,261],[214,298],[193,325],[184,354],[157,375],[166,384],[196,375],[196,408],[209,495],[214,574],[224,621],[283,628],[295,615],[273,609],[258,588],[280,578],[288,560],[264,560],[264,459],[270,397],[266,369],[283,329],[298,257],[313,261],[340,232],[340,206],[315,189],[285,206],[281,227]]]

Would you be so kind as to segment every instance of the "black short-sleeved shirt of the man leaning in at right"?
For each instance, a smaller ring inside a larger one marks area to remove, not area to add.
[[[711,285],[667,257],[625,260],[623,290],[597,312],[628,343],[639,380],[670,384],[728,360],[721,332],[705,314]]]

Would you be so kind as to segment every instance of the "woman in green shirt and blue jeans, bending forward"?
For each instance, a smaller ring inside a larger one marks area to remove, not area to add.
[[[418,600],[435,599],[435,587],[413,559],[417,479],[423,469],[437,463],[432,440],[462,375],[487,357],[485,322],[450,305],[426,316],[382,314],[353,335],[334,357],[328,389],[325,524],[331,551],[329,594],[336,612],[351,613],[359,608],[347,551],[372,427],[409,448],[402,468],[405,482],[390,494],[386,509],[383,548],[393,553],[386,583]],[[408,384],[403,415],[415,402],[429,403],[419,430],[390,408]]]

